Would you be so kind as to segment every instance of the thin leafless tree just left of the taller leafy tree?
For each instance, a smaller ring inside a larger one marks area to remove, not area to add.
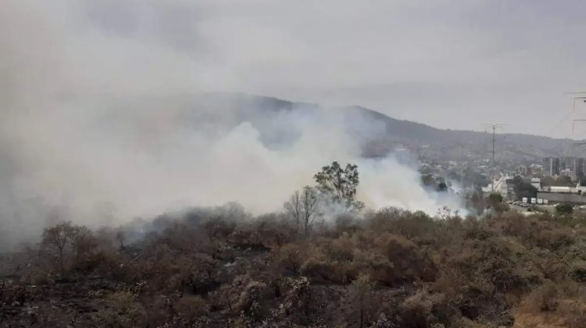
[[[301,192],[295,191],[289,201],[283,204],[285,212],[295,223],[297,233],[302,228],[304,235],[308,236],[311,225],[321,216],[319,203],[319,191],[305,186]]]

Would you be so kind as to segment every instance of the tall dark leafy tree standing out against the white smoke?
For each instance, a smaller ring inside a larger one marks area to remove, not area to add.
[[[344,203],[346,209],[362,209],[364,204],[356,201],[356,188],[360,182],[358,166],[346,164],[342,168],[337,161],[331,165],[322,167],[322,170],[314,175],[319,191],[331,196],[332,201]]]

